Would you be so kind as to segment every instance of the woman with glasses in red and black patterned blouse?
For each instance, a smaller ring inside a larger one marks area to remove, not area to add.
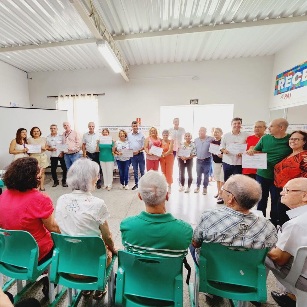
[[[275,165],[274,169],[274,185],[279,193],[286,183],[294,178],[307,178],[307,163],[304,162],[304,155],[307,154],[307,133],[297,130],[292,132],[289,138],[289,146],[293,153]],[[286,214],[289,208],[278,200],[278,220],[279,225],[289,220]]]

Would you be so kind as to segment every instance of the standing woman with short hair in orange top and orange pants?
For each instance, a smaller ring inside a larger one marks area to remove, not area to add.
[[[173,183],[173,166],[174,166],[174,155],[173,155],[173,141],[169,140],[169,130],[162,131],[161,147],[163,153],[160,158],[161,171],[166,177],[166,181],[169,185],[169,194],[172,192]]]

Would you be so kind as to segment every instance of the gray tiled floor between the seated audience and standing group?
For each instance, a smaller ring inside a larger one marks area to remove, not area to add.
[[[175,178],[175,176],[174,176]],[[52,201],[54,203],[54,206],[56,206],[56,200],[57,198],[64,194],[69,193],[69,188],[63,188],[61,185],[57,186],[56,188],[52,188],[52,180],[49,178],[46,178],[45,181],[45,188],[46,192],[50,195],[52,198]],[[134,180],[130,181],[130,188],[132,188],[134,185]],[[195,194],[193,193],[193,190],[195,188],[194,185],[192,185],[191,192],[190,193],[184,193],[179,192],[177,188],[177,184],[173,184],[173,193],[170,195],[170,199],[166,204],[166,209],[168,212],[171,212],[175,217],[183,219],[189,223],[192,224],[192,227],[195,227],[195,224],[197,223],[197,220],[201,214],[201,212],[205,208],[214,208],[216,207],[216,199],[213,198],[213,195],[216,193],[216,183],[211,182],[208,187],[208,194],[202,195],[201,193]],[[139,200],[137,192],[132,191],[131,189],[126,190],[119,190],[119,179],[114,179],[113,181],[113,189],[111,191],[107,190],[95,190],[92,192],[94,196],[102,198],[105,203],[107,204],[107,207],[109,209],[109,212],[111,214],[111,218],[108,220],[113,238],[115,240],[115,244],[119,246],[120,248],[123,248],[121,243],[121,235],[119,231],[119,224],[123,218],[126,216],[131,216],[138,214],[141,212],[145,207],[141,200]],[[194,266],[193,266],[193,260],[190,255],[188,255],[188,262],[192,267],[192,275],[191,275],[191,281],[193,280],[194,276]],[[115,266],[115,269],[117,269],[117,265]],[[184,281],[186,277],[186,270],[184,270]],[[42,306],[47,306],[48,302],[43,297],[43,294],[41,292],[42,288],[42,282],[36,283],[26,294],[26,297],[35,297],[39,301],[41,301]],[[10,292],[16,294],[16,286],[14,285]],[[262,304],[263,307],[268,306],[278,306],[275,304],[274,300],[270,296],[271,290],[278,290],[276,288],[276,282],[274,276],[270,273],[268,280],[267,280],[267,303]],[[184,292],[183,292],[183,301],[185,307],[190,307],[190,298],[188,293],[188,287],[184,283]],[[228,307],[230,306],[229,302],[226,299],[223,299],[221,297],[214,297],[213,299],[210,299],[208,297],[205,297],[203,294],[200,293],[199,296],[199,303],[200,307]],[[67,306],[67,297],[66,295],[60,300],[60,302],[57,305],[58,307]],[[103,301],[95,301],[92,299],[92,297],[89,297],[87,299],[84,299],[81,297],[80,302],[78,304],[78,307],[83,306],[107,306]],[[254,306],[253,304],[249,303],[249,307]]]

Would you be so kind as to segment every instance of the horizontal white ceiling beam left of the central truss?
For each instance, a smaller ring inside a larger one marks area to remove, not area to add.
[[[96,38],[86,38],[78,39],[74,41],[58,41],[54,43],[44,43],[38,45],[23,45],[23,46],[14,46],[14,47],[2,47],[0,52],[11,52],[11,51],[21,51],[21,50],[33,50],[33,49],[44,49],[44,48],[53,48],[53,47],[65,47],[73,45],[83,45],[95,43]]]

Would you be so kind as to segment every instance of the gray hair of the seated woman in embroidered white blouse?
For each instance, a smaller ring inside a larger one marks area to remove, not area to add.
[[[87,158],[75,161],[67,172],[66,183],[72,190],[89,192],[92,181],[98,176],[99,165]]]

